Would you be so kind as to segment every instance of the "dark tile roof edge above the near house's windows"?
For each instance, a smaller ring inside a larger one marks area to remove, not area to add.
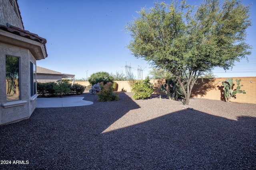
[[[42,43],[44,45],[44,51],[45,51],[46,57],[48,56],[47,51],[46,51],[46,45],[45,45],[46,39],[39,37],[37,34],[30,33],[29,31],[20,29],[19,27],[15,27],[15,26],[9,25],[9,24],[7,24],[7,26],[0,25],[0,29],[7,31],[9,33],[13,33],[15,35],[20,35],[22,37]]]

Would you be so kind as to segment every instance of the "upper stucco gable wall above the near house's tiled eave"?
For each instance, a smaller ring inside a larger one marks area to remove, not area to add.
[[[0,0],[0,24],[10,23],[23,29],[22,21],[18,18],[9,0]]]

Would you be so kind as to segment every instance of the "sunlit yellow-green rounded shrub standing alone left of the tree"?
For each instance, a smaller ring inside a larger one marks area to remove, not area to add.
[[[149,82],[147,76],[145,80],[138,80],[132,86],[132,92],[135,92],[132,96],[135,100],[146,99],[154,92],[154,85]]]

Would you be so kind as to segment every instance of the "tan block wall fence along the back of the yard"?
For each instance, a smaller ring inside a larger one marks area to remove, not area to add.
[[[228,77],[224,78],[212,78],[210,80],[204,79],[204,83],[202,83],[202,79],[198,78],[198,84],[195,84],[192,89],[192,98],[205,98],[211,100],[224,100],[223,95],[223,81],[226,81]],[[245,90],[246,94],[236,94],[236,99],[231,100],[231,102],[238,103],[252,103],[256,104],[256,77],[232,77],[234,82],[234,88],[236,88],[236,79],[241,79],[240,84],[244,86],[241,87],[241,90]],[[132,82],[129,81],[115,81],[118,84],[117,91],[121,92],[122,89],[126,92],[131,92],[131,88],[129,84]],[[150,80],[154,84],[155,91],[154,94],[162,94],[164,92],[159,91],[159,88],[162,84],[165,83],[165,79],[153,79]],[[75,82],[84,86],[90,85],[89,82]]]

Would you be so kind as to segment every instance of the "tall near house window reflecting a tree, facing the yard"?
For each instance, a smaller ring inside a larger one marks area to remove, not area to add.
[[[20,100],[20,58],[6,55],[6,100]]]

